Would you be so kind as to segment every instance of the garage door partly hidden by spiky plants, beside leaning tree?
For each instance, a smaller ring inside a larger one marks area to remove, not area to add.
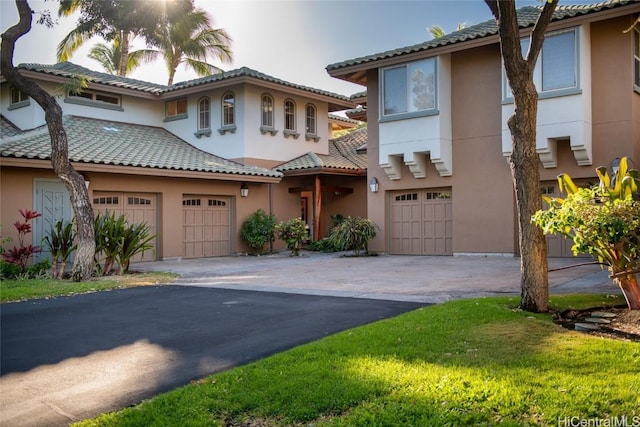
[[[99,213],[109,215],[115,213],[116,218],[124,214],[130,223],[146,223],[151,234],[158,234],[158,202],[155,194],[94,191],[93,211],[96,216]],[[150,243],[153,245],[153,250],[136,255],[131,262],[155,261],[158,257],[157,239],[153,239]]]

